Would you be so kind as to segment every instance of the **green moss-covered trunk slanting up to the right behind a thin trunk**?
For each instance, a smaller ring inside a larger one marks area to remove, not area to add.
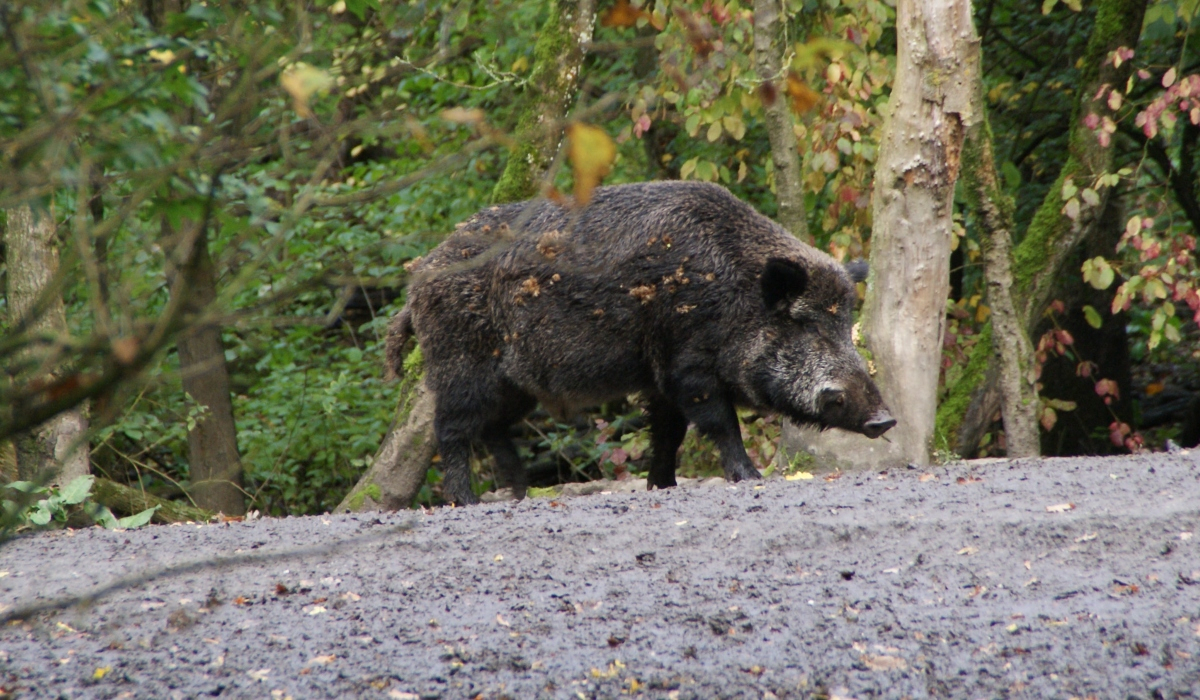
[[[1104,148],[1097,134],[1084,124],[1090,113],[1112,116],[1104,98],[1094,100],[1102,86],[1124,85],[1132,64],[1124,61],[1115,67],[1108,60],[1118,47],[1133,48],[1141,34],[1146,0],[1102,0],[1096,12],[1096,24],[1080,61],[1079,100],[1070,120],[1069,154],[1058,179],[1050,186],[1042,207],[1033,216],[1021,243],[1013,251],[1013,301],[1027,334],[1033,334],[1042,312],[1062,276],[1063,264],[1079,244],[1096,229],[1104,211],[1109,187],[1099,187],[1094,205],[1080,202],[1075,219],[1063,214],[1063,184],[1070,179],[1079,189],[1093,187],[1096,178],[1112,166],[1112,148]],[[978,439],[986,432],[986,424],[1000,409],[1000,391],[990,382],[998,381],[998,372],[986,372],[990,347],[976,346],[968,360],[968,371],[950,388],[950,393],[938,409],[937,432],[949,449],[971,454],[978,448]],[[1032,360],[1031,360],[1032,364]],[[972,421],[965,417],[973,418]]]

